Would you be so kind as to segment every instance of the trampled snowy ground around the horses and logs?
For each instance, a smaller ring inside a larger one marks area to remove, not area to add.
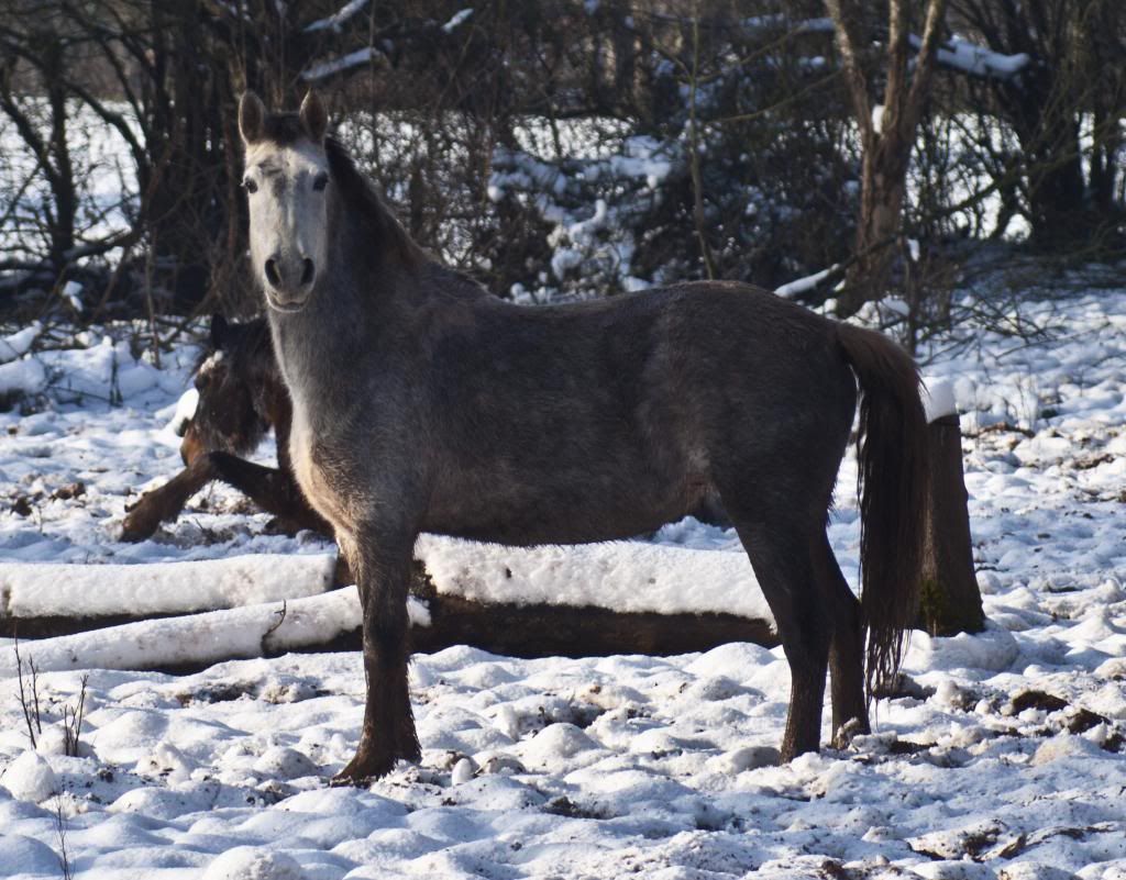
[[[778,649],[518,661],[455,647],[411,668],[422,764],[366,791],[330,789],[359,731],[357,655],[173,677],[82,668],[74,643],[75,668],[39,675],[30,751],[5,646],[0,874],[60,877],[65,848],[90,880],[1126,878],[1126,290],[1028,300],[1010,317],[1046,332],[946,338],[927,367],[964,413],[990,629],[917,634],[902,694],[847,752],[771,765],[789,695]],[[91,333],[32,358],[24,336],[0,345],[0,392],[45,401],[0,414],[0,564],[323,557],[319,540],[265,533],[267,518],[223,488],[153,540],[115,540],[125,503],[179,467],[166,425],[195,352],[158,369],[134,360],[127,329],[109,332],[117,342]],[[852,583],[855,476],[850,452],[830,536]],[[715,571],[740,558],[733,533],[695,521],[650,545],[695,550]],[[428,546],[456,580],[454,557]],[[643,578],[622,560],[645,546],[602,551],[607,601],[636,595]],[[529,574],[548,594],[578,589],[570,551],[557,553]],[[128,580],[105,571],[72,601]],[[688,578],[685,601],[726,610],[701,583]],[[239,601],[275,598],[263,590]],[[0,592],[7,610],[12,589]],[[64,708],[83,674],[81,756],[66,757]]]

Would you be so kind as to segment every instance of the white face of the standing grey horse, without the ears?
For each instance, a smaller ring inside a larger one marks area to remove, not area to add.
[[[322,147],[302,140],[284,147],[248,145],[245,162],[254,272],[267,296],[275,291],[293,300],[305,261],[315,275],[328,258],[328,159]],[[267,269],[271,260],[277,273]]]

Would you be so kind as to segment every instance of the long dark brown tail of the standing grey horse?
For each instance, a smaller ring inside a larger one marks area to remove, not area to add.
[[[915,621],[927,502],[927,416],[919,371],[893,341],[840,324],[860,385],[858,465],[861,608],[868,628],[867,688],[890,685]]]

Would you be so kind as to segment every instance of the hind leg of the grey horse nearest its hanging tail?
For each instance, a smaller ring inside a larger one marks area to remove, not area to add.
[[[864,622],[860,602],[849,590],[837,558],[822,535],[814,540],[813,562],[832,608],[833,637],[829,646],[833,702],[833,745],[843,747],[856,734],[870,733],[864,693]]]

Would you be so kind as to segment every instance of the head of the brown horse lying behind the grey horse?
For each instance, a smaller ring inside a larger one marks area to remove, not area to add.
[[[233,324],[212,317],[211,343],[196,369],[199,402],[181,433],[184,464],[213,450],[244,456],[258,447],[270,428],[262,390],[276,369],[261,318]]]

